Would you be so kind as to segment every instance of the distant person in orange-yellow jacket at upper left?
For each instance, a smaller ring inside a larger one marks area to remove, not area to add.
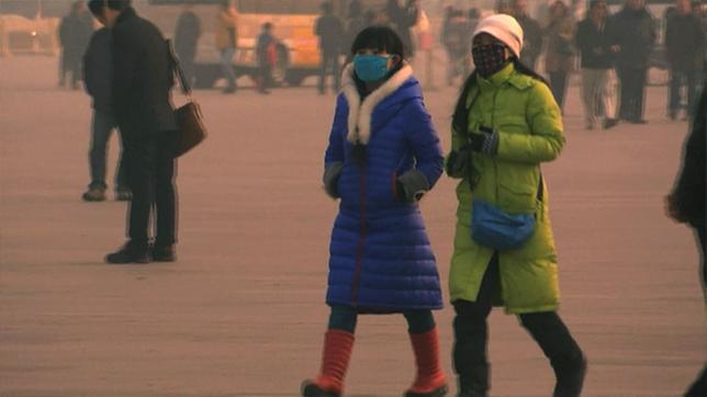
[[[221,68],[226,79],[224,93],[236,92],[236,69],[233,56],[238,48],[238,13],[232,0],[222,0],[216,18],[216,49],[221,53]]]

